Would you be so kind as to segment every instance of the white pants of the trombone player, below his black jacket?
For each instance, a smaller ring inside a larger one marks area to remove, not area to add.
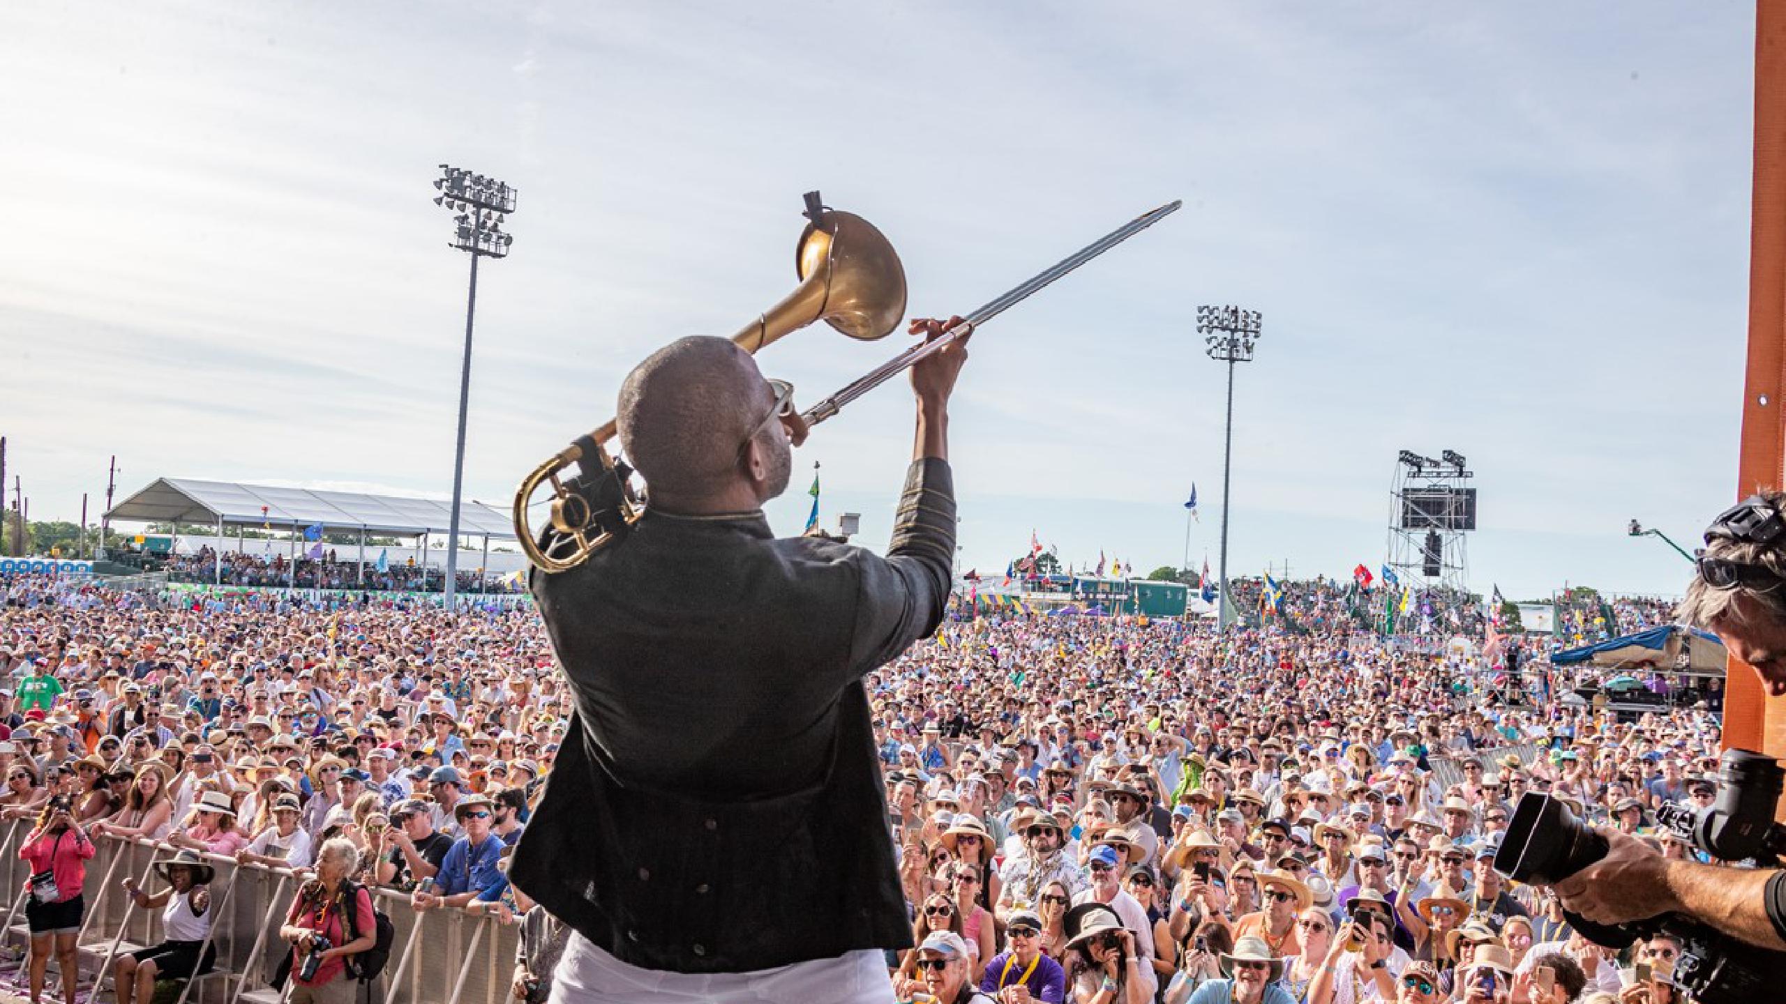
[[[893,1004],[886,954],[848,952],[755,972],[711,975],[627,965],[572,933],[550,1004]]]

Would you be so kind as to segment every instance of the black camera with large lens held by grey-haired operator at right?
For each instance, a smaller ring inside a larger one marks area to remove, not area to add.
[[[1713,804],[1704,809],[1666,804],[1657,811],[1657,824],[1720,861],[1772,861],[1786,856],[1786,829],[1773,824],[1782,784],[1786,770],[1773,757],[1725,750]],[[1563,802],[1527,791],[1495,854],[1495,870],[1516,883],[1554,886],[1606,858],[1607,850],[1606,838]],[[1563,916],[1582,938],[1607,949],[1656,934],[1679,938],[1682,954],[1673,981],[1698,1004],[1766,1000],[1786,983],[1786,952],[1757,949],[1679,913],[1632,924],[1595,924],[1570,911]]]

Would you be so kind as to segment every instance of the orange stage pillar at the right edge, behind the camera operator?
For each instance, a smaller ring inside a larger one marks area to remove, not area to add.
[[[1748,372],[1736,498],[1786,488],[1786,0],[1756,4],[1756,182],[1750,209]],[[1731,659],[1723,743],[1786,756],[1786,700]]]

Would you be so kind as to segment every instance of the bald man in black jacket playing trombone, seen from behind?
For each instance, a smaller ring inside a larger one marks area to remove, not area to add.
[[[577,702],[511,875],[573,929],[552,1000],[893,999],[882,949],[911,947],[911,925],[861,679],[948,600],[964,359],[961,338],[911,368],[886,557],[770,532],[761,506],[805,423],[734,343],[684,338],[627,377],[645,515],[534,575]]]

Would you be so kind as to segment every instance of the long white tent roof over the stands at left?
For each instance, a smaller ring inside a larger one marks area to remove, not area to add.
[[[275,529],[291,529],[293,525],[302,529],[321,523],[325,531],[366,529],[404,536],[452,529],[452,504],[438,498],[313,491],[189,477],[155,479],[114,506],[105,516],[157,523],[216,523],[221,518],[225,527],[268,523]],[[459,532],[514,540],[514,523],[504,509],[482,502],[464,502],[459,506]]]

